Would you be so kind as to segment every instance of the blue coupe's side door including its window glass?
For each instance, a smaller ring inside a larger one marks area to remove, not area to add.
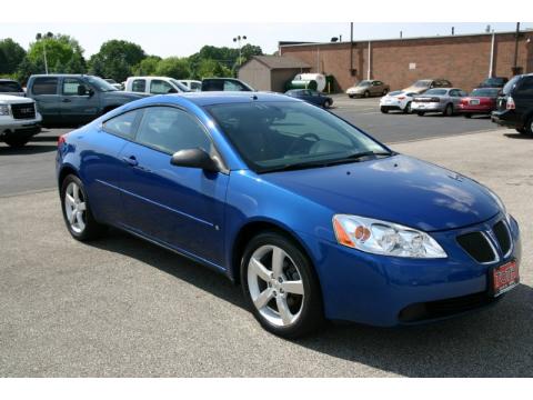
[[[144,110],[135,142],[121,152],[123,224],[181,252],[223,263],[223,211],[228,176],[170,163],[174,152],[214,152],[205,128],[174,107]]]

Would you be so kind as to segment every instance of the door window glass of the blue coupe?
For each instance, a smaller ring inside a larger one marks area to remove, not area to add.
[[[135,140],[169,154],[197,148],[211,151],[211,141],[201,123],[172,107],[147,108]]]

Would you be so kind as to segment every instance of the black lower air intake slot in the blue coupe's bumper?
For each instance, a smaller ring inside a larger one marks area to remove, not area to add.
[[[496,299],[489,297],[486,292],[479,292],[451,299],[414,303],[405,307],[398,317],[401,322],[446,318],[489,306]]]

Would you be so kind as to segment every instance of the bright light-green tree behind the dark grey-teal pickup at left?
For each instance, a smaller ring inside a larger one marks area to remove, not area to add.
[[[44,50],[46,48],[46,50]],[[68,34],[51,34],[42,37],[33,43],[30,43],[28,50],[28,61],[39,66],[44,60],[47,52],[47,63],[49,72],[58,73],[84,73],[86,60],[83,59],[83,49],[80,43]],[[44,72],[44,69],[39,72]]]

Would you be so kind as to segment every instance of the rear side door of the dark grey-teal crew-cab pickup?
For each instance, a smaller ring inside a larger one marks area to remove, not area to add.
[[[36,100],[44,124],[60,122],[61,108],[58,77],[36,78],[30,87],[29,94]]]

